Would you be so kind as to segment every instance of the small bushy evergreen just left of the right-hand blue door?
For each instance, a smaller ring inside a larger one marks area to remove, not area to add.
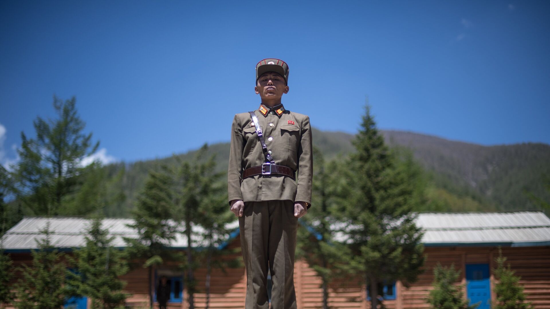
[[[479,304],[469,305],[464,299],[464,285],[456,285],[460,271],[456,271],[454,264],[443,267],[437,263],[433,269],[433,289],[427,298],[428,304],[434,309],[475,309]]]

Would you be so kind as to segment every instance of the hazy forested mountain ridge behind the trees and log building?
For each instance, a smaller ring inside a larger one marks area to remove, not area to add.
[[[550,200],[544,189],[544,175],[550,176],[550,145],[524,143],[502,146],[481,146],[450,141],[435,136],[404,131],[382,130],[392,149],[405,148],[414,155],[430,183],[428,197],[435,200],[434,211],[481,211],[537,208],[529,194]],[[327,160],[343,159],[354,151],[354,135],[313,129],[313,144]],[[208,152],[216,154],[217,169],[227,170],[229,143],[210,145]],[[179,154],[187,160],[196,151]],[[124,201],[116,207],[106,207],[107,216],[127,216],[136,193],[145,181],[147,170],[161,163],[175,164],[174,157],[132,163],[109,164],[108,178],[117,178],[117,190]]]

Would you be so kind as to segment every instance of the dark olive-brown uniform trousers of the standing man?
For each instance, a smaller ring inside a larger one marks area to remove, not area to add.
[[[246,268],[246,309],[268,309],[267,269],[272,309],[296,309],[294,253],[298,218],[289,200],[244,202],[239,231]]]

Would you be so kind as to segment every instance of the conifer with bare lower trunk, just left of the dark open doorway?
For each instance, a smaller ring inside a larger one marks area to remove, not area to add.
[[[138,232],[138,238],[124,238],[131,260],[142,261],[139,265],[149,269],[149,281],[152,282],[153,267],[167,260],[177,258],[168,248],[175,241],[177,229],[173,203],[173,175],[166,165],[159,171],[151,170],[136,208],[132,212],[133,224],[128,227]],[[131,265],[135,268],[137,265]],[[153,306],[153,295],[149,291],[150,307]]]

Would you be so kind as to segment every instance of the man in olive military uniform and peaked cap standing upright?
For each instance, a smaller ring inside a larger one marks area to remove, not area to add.
[[[229,153],[229,205],[239,217],[246,267],[246,309],[296,308],[294,252],[298,218],[311,203],[312,141],[309,117],[290,112],[288,65],[279,59],[256,64],[254,112],[236,114]]]

